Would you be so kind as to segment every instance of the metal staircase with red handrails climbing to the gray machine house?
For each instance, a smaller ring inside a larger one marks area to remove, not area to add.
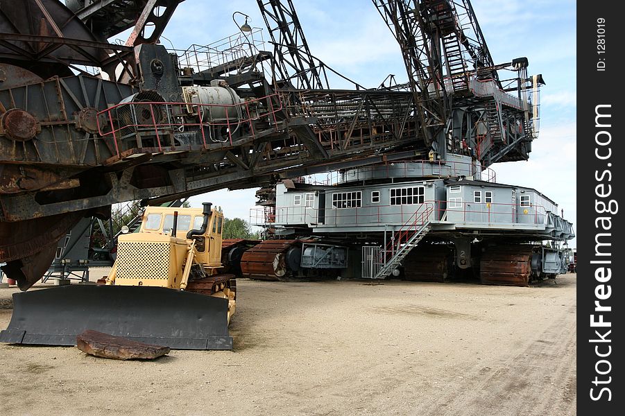
[[[413,216],[393,234],[393,239],[381,252],[383,265],[374,279],[386,279],[393,270],[401,266],[404,258],[415,248],[431,229],[430,215],[434,211],[431,204],[424,204]]]

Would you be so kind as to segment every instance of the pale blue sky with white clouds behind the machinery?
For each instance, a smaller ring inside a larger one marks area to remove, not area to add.
[[[293,0],[293,4],[311,53],[329,67],[365,87],[376,87],[389,73],[399,83],[407,80],[400,48],[373,2]],[[535,188],[554,200],[575,226],[576,3],[474,0],[472,6],[495,63],[524,56],[529,59],[528,73],[542,73],[546,83],[540,96],[540,134],[533,141],[529,161],[490,168],[497,173],[497,182]],[[186,0],[175,10],[162,43],[187,49],[237,33],[234,12],[249,15],[250,26],[264,28],[256,1]],[[236,19],[243,24],[241,15]],[[266,28],[264,32],[267,40]],[[221,206],[228,218],[249,220],[255,189],[214,191],[190,199],[198,207],[203,201]],[[576,247],[575,240],[570,246]]]

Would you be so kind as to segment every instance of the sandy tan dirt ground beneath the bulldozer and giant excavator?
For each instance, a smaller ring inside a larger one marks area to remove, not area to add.
[[[237,281],[232,352],[0,345],[0,415],[574,415],[576,275]],[[0,328],[14,289],[0,289]]]

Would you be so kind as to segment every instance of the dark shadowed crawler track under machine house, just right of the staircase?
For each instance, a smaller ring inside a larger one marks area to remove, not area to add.
[[[404,279],[446,281],[450,277],[453,248],[443,244],[419,245],[404,259]]]

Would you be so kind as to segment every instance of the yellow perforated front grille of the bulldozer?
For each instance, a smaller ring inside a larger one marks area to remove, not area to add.
[[[169,279],[169,243],[120,241],[116,279]]]

